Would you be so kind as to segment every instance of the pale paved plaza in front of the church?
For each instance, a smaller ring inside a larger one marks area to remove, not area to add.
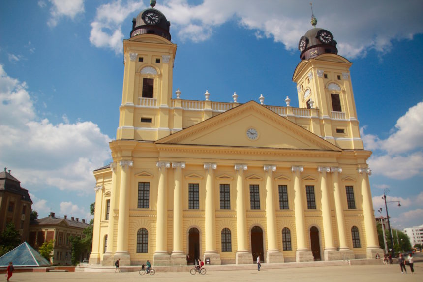
[[[205,275],[189,272],[156,272],[154,276],[140,276],[138,272],[24,272],[15,273],[11,280],[34,282],[230,282],[230,281],[300,281],[300,282],[375,282],[423,281],[423,262],[414,264],[415,274],[401,274],[398,264],[393,265],[343,265],[248,270],[209,270]],[[409,267],[407,266],[409,271]],[[4,281],[6,280],[3,278]]]

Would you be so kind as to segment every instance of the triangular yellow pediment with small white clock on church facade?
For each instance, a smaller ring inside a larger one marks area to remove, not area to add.
[[[164,137],[156,144],[342,151],[254,101]]]

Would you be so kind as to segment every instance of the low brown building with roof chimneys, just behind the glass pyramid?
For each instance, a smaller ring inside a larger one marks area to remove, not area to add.
[[[69,265],[71,263],[70,237],[84,237],[82,232],[89,224],[85,219],[79,221],[79,218],[67,216],[64,218],[55,217],[55,213],[50,213],[48,217],[37,219],[30,222],[30,235],[28,243],[35,249],[44,242],[54,241],[52,264]],[[88,259],[89,254],[81,254],[81,260]]]

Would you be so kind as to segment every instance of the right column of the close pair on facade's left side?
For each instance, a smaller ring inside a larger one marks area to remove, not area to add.
[[[175,176],[175,188],[173,190],[173,251],[172,265],[186,265],[186,257],[182,247],[182,226],[183,226],[183,206],[182,206],[182,169],[184,162],[172,162]]]

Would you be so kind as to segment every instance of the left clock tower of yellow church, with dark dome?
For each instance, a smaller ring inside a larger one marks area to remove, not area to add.
[[[125,62],[117,140],[155,141],[170,134],[176,44],[170,22],[157,9],[141,11],[132,20],[130,38],[123,41]]]

